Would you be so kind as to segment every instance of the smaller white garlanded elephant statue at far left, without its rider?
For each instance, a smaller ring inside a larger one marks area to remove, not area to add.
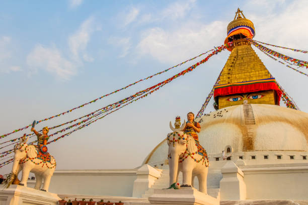
[[[40,189],[44,178],[44,184],[41,190],[48,191],[51,176],[56,168],[56,161],[53,156],[39,153],[34,145],[28,145],[29,137],[25,140],[20,139],[14,147],[14,161],[12,173],[16,175],[22,170],[22,179],[19,185],[27,186],[29,173],[32,172],[36,177],[35,189]]]

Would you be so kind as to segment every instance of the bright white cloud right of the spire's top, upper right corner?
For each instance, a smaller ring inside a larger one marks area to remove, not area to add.
[[[279,3],[279,4],[278,4]],[[281,7],[283,1],[278,1]],[[307,39],[308,4],[306,1],[294,1],[285,5],[285,9],[273,13],[258,13],[247,17],[256,27],[256,39],[282,46],[294,46],[304,49]],[[296,12],[294,12],[296,11]]]

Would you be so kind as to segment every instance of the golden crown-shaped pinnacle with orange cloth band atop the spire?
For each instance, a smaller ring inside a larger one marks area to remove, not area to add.
[[[242,14],[242,16],[241,16]],[[224,40],[224,44],[233,42],[238,39],[253,38],[255,36],[255,27],[252,21],[246,19],[243,11],[238,9],[234,20],[227,26],[227,37]],[[227,48],[228,51],[232,51],[233,47]]]

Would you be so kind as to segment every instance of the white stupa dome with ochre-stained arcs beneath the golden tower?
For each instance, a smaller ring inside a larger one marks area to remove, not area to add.
[[[200,122],[200,144],[208,154],[233,152],[307,151],[308,114],[275,105],[248,104],[211,112]],[[144,163],[164,161],[168,155],[164,139],[144,159]]]

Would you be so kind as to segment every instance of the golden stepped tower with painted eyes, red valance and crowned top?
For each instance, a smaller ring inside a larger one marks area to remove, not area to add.
[[[235,20],[227,27],[226,41],[233,44],[232,52],[221,71],[219,83],[214,86],[218,109],[242,104],[279,105],[281,91],[275,78],[246,40],[252,38],[254,32],[253,23],[238,9]]]

